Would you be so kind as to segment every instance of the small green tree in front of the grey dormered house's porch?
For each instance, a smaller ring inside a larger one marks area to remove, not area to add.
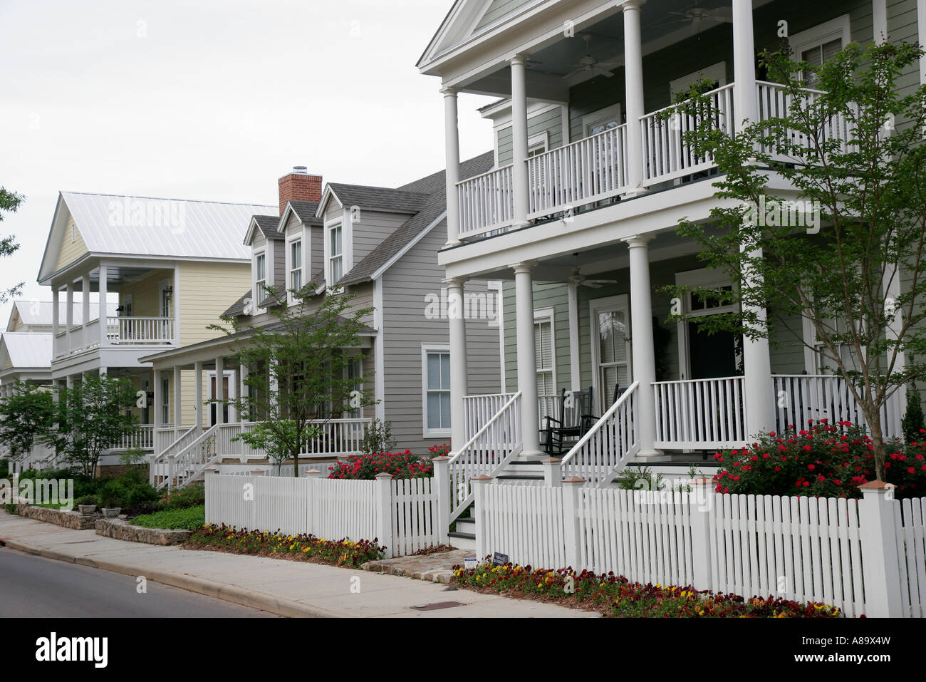
[[[257,424],[236,437],[265,450],[277,466],[292,459],[294,476],[299,475],[299,455],[309,441],[324,436],[326,423],[373,402],[364,376],[348,372],[351,361],[364,356],[344,352],[360,345],[365,327],[361,319],[372,308],[354,309],[354,296],[340,291],[330,291],[312,305],[316,288],[309,283],[292,290],[296,302],[289,306],[283,292],[268,287],[269,297],[280,302],[273,309],[275,322],[242,328],[236,320],[226,320],[231,331],[215,327],[230,334],[246,332],[234,352],[249,368],[247,395],[226,402]]]

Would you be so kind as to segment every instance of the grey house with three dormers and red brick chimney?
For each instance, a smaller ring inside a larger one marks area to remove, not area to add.
[[[476,176],[492,164],[492,155],[484,154],[458,164],[457,174]],[[391,424],[401,448],[419,453],[462,427],[463,412],[450,400],[450,385],[458,379],[449,372],[447,323],[453,308],[448,301],[455,297],[471,318],[464,344],[469,357],[462,363],[469,385],[484,393],[500,390],[500,286],[479,279],[444,282],[437,263],[437,251],[447,242],[443,171],[399,187],[371,187],[323,185],[321,176],[296,167],[278,184],[279,214],[257,213],[241,226],[250,251],[250,282],[223,312],[237,318],[243,331],[143,358],[160,375],[193,373],[196,385],[198,377],[209,377],[204,396],[212,404],[196,410],[179,439],[156,453],[152,476],[159,486],[185,485],[215,465],[223,471],[267,465],[265,453],[232,440],[253,424],[242,422],[228,405],[218,410],[216,401],[240,395],[244,377],[256,371],[235,358],[246,329],[279,323],[273,309],[295,303],[291,293],[269,296],[270,287],[290,292],[314,282],[309,309],[332,288],[353,294],[355,309],[372,309],[362,319],[366,328],[358,347],[344,352],[356,356],[349,372],[368,377],[375,404],[327,421],[324,436],[307,446],[305,454],[315,461],[356,453],[374,418]],[[213,378],[218,376],[219,382]]]

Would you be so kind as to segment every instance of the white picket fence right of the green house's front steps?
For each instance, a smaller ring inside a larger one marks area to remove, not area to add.
[[[477,554],[641,583],[926,616],[926,499],[720,495],[477,481]]]

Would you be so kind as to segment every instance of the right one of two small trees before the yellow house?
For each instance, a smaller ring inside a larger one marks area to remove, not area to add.
[[[135,390],[128,379],[106,374],[88,374],[59,390],[56,428],[44,440],[93,478],[103,450],[116,447],[134,428]]]

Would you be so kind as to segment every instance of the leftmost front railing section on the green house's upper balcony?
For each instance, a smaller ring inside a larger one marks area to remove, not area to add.
[[[491,232],[514,220],[511,169],[508,165],[457,183],[460,237]]]

